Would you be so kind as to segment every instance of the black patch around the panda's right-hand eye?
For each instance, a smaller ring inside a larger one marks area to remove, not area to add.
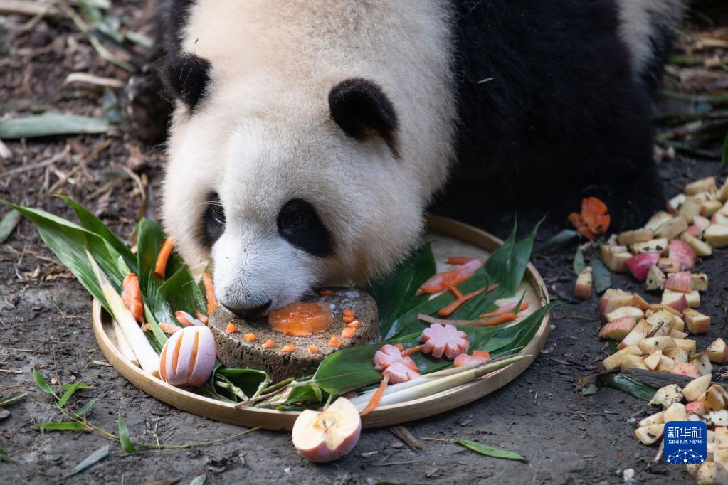
[[[302,199],[285,203],[278,213],[277,225],[280,236],[298,249],[317,257],[333,252],[331,233],[316,209]]]

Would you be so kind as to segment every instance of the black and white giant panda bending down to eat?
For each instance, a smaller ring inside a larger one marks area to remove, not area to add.
[[[650,110],[679,0],[161,9],[165,229],[243,318],[387,273],[436,197],[466,215],[588,192],[617,225],[662,204]]]

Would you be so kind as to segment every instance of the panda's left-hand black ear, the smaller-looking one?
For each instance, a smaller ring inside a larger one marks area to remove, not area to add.
[[[193,111],[210,83],[210,63],[196,55],[170,55],[161,74],[167,92]]]

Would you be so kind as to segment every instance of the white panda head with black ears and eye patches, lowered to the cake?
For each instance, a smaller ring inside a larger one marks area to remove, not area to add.
[[[212,263],[233,313],[366,281],[416,244],[430,189],[400,156],[397,110],[376,82],[293,85],[194,55],[162,74],[176,99],[165,228],[194,269]]]

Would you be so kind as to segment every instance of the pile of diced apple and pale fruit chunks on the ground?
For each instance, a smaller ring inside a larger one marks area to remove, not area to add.
[[[728,246],[728,180],[721,188],[715,177],[697,180],[668,201],[644,228],[612,236],[600,246],[601,260],[615,273],[631,273],[648,292],[662,292],[649,304],[636,293],[607,289],[600,310],[606,323],[599,337],[619,342],[604,359],[606,371],[644,369],[691,377],[657,390],[651,405],[663,410],[639,422],[635,436],[646,445],[661,443],[665,423],[700,420],[708,426],[708,459],[687,465],[698,483],[728,484],[728,392],[712,381],[713,363],[728,361],[726,342],[714,340],[697,352],[690,334],[704,334],[711,317],[700,313],[700,292],[708,276],[697,272],[699,257]],[[591,294],[592,268],[582,270],[576,297]]]

